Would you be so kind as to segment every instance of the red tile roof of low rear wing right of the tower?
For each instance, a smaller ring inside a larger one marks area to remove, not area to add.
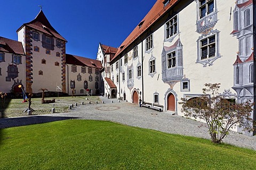
[[[96,67],[101,69],[102,64],[98,60],[93,60],[91,58],[85,58],[77,55],[66,54],[66,63],[74,65],[84,65],[87,67]]]

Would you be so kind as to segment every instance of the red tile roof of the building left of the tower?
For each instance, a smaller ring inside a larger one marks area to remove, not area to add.
[[[0,37],[0,52],[25,55],[21,42],[4,37]]]

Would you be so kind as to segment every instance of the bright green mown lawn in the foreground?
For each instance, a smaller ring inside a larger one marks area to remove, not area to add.
[[[0,130],[0,169],[255,169],[256,151],[104,121]]]

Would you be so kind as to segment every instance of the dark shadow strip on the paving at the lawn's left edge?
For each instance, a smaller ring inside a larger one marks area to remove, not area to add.
[[[31,124],[48,123],[54,121],[63,121],[79,117],[64,117],[64,116],[29,116],[29,117],[13,117],[0,118],[0,134],[1,129],[17,126],[25,126]]]

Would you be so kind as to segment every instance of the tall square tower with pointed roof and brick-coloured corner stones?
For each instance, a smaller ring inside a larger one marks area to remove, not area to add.
[[[66,43],[47,20],[43,10],[17,30],[26,54],[26,92],[40,88],[66,92]]]

